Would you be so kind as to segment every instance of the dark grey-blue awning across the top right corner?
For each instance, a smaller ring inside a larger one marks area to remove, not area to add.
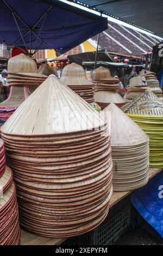
[[[71,0],[163,36],[162,0]]]

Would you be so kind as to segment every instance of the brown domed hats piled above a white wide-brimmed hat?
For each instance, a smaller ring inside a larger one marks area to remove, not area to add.
[[[102,109],[110,103],[115,103],[118,107],[122,107],[126,101],[120,94],[116,92],[118,86],[118,78],[111,77],[110,70],[100,66],[93,71],[93,82],[96,85],[95,101]]]

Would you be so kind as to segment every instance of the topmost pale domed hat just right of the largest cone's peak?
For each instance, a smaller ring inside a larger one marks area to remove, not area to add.
[[[85,77],[83,67],[76,63],[65,66],[60,81],[65,83],[66,86],[93,85],[93,83]]]

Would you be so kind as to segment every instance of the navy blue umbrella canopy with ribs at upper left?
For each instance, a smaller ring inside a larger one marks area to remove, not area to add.
[[[58,0],[1,1],[0,43],[15,47],[64,53],[107,27],[107,19]]]

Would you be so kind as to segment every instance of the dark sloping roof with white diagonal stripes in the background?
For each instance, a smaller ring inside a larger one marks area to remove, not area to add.
[[[97,41],[97,35],[92,39]],[[153,46],[159,41],[161,40],[109,21],[108,29],[100,34],[99,46],[107,51],[141,56],[141,54],[151,52]]]

